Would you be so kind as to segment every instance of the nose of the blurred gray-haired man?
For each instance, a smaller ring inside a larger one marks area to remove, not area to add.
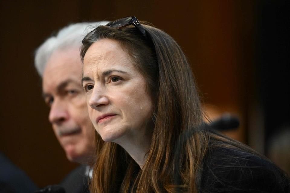
[[[64,102],[54,100],[49,112],[51,124],[60,124],[69,119],[67,106]]]

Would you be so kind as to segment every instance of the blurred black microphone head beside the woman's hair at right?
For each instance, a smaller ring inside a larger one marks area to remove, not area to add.
[[[236,116],[229,113],[224,113],[221,118],[211,122],[210,126],[219,131],[229,131],[237,129],[240,125],[240,121]]]

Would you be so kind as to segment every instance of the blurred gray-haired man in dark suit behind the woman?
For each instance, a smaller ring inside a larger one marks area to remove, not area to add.
[[[77,23],[61,29],[35,52],[35,67],[42,77],[43,97],[50,106],[49,121],[69,161],[94,161],[95,129],[89,119],[81,84],[82,38],[92,27],[108,22]],[[101,142],[99,142],[101,143]],[[89,168],[75,169],[61,185],[66,192],[85,192]]]

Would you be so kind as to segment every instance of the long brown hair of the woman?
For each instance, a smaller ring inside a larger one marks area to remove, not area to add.
[[[210,138],[230,140],[195,129],[202,124],[203,115],[184,53],[167,33],[141,24],[147,37],[132,26],[99,26],[83,40],[82,60],[94,42],[105,38],[118,41],[145,77],[155,102],[152,141],[142,170],[121,146],[105,142],[93,168],[91,191],[198,192]],[[229,145],[243,146],[236,142]]]

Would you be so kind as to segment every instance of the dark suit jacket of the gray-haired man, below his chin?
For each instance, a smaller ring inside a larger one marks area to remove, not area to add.
[[[66,193],[89,193],[89,177],[85,173],[86,167],[77,167],[60,183],[65,188]]]

